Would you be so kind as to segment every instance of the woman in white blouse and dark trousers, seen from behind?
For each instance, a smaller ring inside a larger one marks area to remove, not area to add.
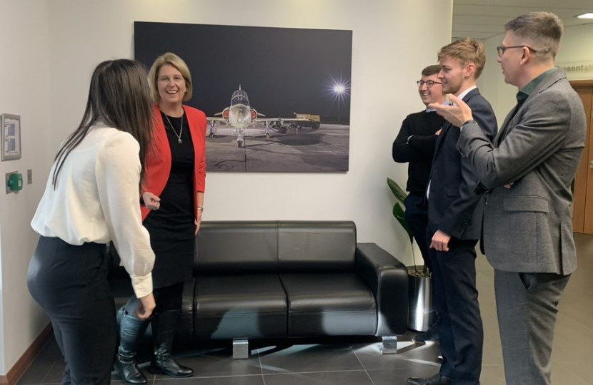
[[[64,354],[62,384],[111,381],[117,324],[108,242],[131,277],[136,317],[148,319],[156,306],[154,252],[138,204],[150,143],[146,71],[126,59],[100,63],[81,123],[62,143],[31,221],[41,237],[27,284]]]

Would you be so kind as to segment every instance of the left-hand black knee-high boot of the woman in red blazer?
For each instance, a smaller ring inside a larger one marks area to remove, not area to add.
[[[126,384],[146,384],[146,377],[136,366],[138,342],[144,336],[150,319],[139,319],[134,314],[120,310],[119,349],[115,360],[115,369]]]

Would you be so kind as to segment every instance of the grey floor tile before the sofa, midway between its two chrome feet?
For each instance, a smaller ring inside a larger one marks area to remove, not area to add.
[[[278,350],[260,349],[259,359],[264,374],[363,369],[354,351],[346,345],[311,344]]]

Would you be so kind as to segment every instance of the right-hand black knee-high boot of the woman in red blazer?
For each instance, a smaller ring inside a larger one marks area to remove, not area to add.
[[[192,369],[179,365],[171,354],[175,328],[180,314],[181,309],[170,310],[169,312],[155,314],[152,320],[154,356],[151,359],[150,366],[153,373],[168,374],[173,377],[187,377],[194,374]]]

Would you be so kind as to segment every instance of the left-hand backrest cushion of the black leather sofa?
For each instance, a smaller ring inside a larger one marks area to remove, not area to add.
[[[278,269],[278,222],[204,222],[196,237],[197,274],[263,274]]]

